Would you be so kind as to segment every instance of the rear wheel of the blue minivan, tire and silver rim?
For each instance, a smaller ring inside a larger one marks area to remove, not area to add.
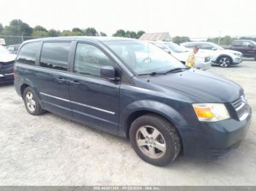
[[[24,90],[23,101],[29,114],[39,115],[45,112],[39,103],[37,95],[34,93],[31,87],[26,87]]]

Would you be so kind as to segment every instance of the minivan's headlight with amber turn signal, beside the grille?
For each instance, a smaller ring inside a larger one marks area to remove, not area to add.
[[[230,118],[224,104],[192,104],[198,120],[204,122],[216,122]]]

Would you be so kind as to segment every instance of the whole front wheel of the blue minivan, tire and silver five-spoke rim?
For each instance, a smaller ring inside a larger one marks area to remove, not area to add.
[[[129,139],[137,155],[152,165],[169,164],[181,150],[176,128],[156,114],[146,114],[132,122]]]

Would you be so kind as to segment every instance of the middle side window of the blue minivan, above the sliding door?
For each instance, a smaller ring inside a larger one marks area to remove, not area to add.
[[[40,66],[67,71],[70,42],[45,42],[42,45]]]

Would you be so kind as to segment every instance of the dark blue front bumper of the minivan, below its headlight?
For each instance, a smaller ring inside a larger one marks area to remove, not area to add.
[[[180,128],[184,155],[193,157],[221,157],[239,146],[249,128],[252,109],[245,120],[200,122],[199,128]]]

